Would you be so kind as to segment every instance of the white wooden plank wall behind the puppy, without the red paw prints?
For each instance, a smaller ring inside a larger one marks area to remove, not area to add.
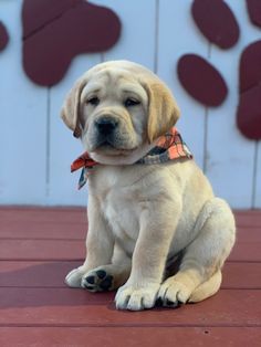
[[[65,78],[52,88],[34,85],[22,71],[21,0],[0,0],[0,20],[10,34],[0,53],[0,204],[84,206],[86,189],[70,164],[81,144],[59,114],[76,77],[106,60],[127,59],[154,70],[174,91],[182,117],[178,127],[218,196],[233,208],[261,208],[261,144],[247,140],[236,127],[238,63],[243,48],[260,39],[244,0],[227,0],[240,23],[240,40],[228,51],[210,45],[190,15],[191,0],[93,0],[113,9],[122,35],[109,51],[74,59]],[[197,53],[226,77],[229,95],[218,108],[195,102],[180,86],[176,64]]]

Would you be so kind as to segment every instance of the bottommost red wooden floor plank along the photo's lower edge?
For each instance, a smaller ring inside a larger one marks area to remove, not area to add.
[[[2,347],[27,346],[150,346],[173,347],[174,341],[182,347],[202,346],[251,346],[259,347],[259,328],[233,327],[2,327],[0,345]]]

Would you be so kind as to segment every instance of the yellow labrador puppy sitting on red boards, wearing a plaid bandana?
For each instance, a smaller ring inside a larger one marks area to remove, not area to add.
[[[173,128],[178,117],[166,85],[127,61],[94,66],[69,93],[62,118],[86,150],[74,169],[88,176],[86,260],[69,286],[118,288],[116,307],[132,311],[219,290],[234,219]]]

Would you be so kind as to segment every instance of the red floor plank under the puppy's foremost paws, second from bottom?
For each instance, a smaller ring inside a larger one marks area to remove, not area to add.
[[[70,288],[0,288],[0,325],[23,326],[261,326],[261,291],[222,290],[179,309],[121,312],[113,293]]]

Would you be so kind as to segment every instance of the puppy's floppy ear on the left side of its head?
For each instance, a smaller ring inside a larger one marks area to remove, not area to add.
[[[81,136],[80,127],[80,112],[81,112],[81,93],[86,85],[87,81],[84,78],[79,80],[72,90],[69,92],[61,111],[61,117],[66,126],[73,130],[73,136]]]

